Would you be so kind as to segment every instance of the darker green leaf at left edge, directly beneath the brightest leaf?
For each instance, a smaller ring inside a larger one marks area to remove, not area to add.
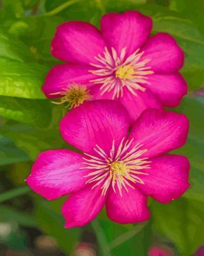
[[[51,104],[48,100],[0,96],[0,116],[43,127],[51,120]]]

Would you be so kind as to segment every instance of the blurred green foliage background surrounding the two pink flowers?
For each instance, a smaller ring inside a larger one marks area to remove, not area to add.
[[[204,1],[203,0],[1,0],[0,1],[0,255],[173,256],[204,255]],[[108,12],[139,10],[153,33],[175,36],[185,51],[181,72],[189,93],[175,109],[189,117],[185,147],[191,188],[171,204],[149,200],[146,223],[118,225],[106,212],[82,228],[64,228],[61,205],[27,188],[24,179],[38,154],[68,147],[59,134],[65,109],[40,90],[56,26],[86,20],[98,26]],[[160,251],[159,251],[160,250]],[[159,252],[161,254],[159,254]],[[196,254],[195,254],[196,253]]]

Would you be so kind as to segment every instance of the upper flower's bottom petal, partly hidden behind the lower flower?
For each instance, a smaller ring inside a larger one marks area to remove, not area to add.
[[[163,109],[161,102],[150,92],[141,92],[136,90],[137,96],[129,92],[127,88],[124,88],[124,95],[120,98],[120,102],[125,106],[132,123],[141,115],[146,108]]]

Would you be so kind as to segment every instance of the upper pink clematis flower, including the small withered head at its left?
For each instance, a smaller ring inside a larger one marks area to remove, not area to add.
[[[136,11],[104,15],[100,31],[87,22],[61,24],[52,54],[68,63],[51,69],[43,92],[70,108],[90,99],[120,100],[132,122],[146,108],[177,106],[187,92],[178,73],[184,52],[172,36],[150,37],[151,30],[152,19]]]

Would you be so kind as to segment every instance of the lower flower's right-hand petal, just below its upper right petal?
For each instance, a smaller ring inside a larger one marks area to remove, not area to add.
[[[143,170],[148,175],[138,175],[145,184],[137,183],[137,188],[162,203],[182,196],[189,188],[190,164],[186,157],[168,155],[150,159],[150,169]]]

